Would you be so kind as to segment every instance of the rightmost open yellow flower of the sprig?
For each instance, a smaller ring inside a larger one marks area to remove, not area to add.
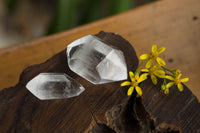
[[[183,91],[183,85],[181,84],[182,82],[187,82],[189,80],[189,78],[184,78],[184,79],[180,79],[182,74],[179,74],[176,78],[172,77],[172,76],[165,76],[165,78],[173,81],[173,82],[169,82],[166,85],[166,88],[169,89],[170,87],[172,87],[174,84],[177,85],[179,91]]]

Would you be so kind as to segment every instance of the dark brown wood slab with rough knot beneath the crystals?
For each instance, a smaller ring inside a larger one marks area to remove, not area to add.
[[[138,65],[131,44],[119,35],[101,32],[104,42],[124,52],[128,70]],[[41,72],[67,73],[85,87],[73,98],[39,100],[25,87]],[[129,79],[130,80],[130,79]],[[72,72],[66,50],[48,61],[28,67],[15,87],[0,92],[0,132],[2,133],[197,133],[200,131],[200,103],[184,85],[169,95],[154,86],[150,78],[141,83],[142,97],[127,96],[122,81],[94,85]],[[174,132],[169,132],[174,131]],[[176,131],[176,132],[175,132]]]

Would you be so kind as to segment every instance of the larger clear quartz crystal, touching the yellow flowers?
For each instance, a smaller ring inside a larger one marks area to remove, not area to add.
[[[127,79],[123,52],[88,35],[67,47],[70,69],[94,84]]]

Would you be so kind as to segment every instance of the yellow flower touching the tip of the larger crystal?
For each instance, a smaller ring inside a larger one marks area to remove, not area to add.
[[[141,75],[139,76],[139,74],[135,74],[133,72],[129,72],[129,76],[130,76],[130,79],[131,79],[131,82],[130,81],[125,81],[121,84],[121,86],[127,86],[127,85],[130,85],[131,87],[128,89],[127,91],[127,95],[130,96],[134,89],[136,90],[136,92],[141,96],[142,95],[142,90],[141,88],[138,86],[139,83],[141,83],[142,81],[144,81],[146,78],[147,78],[147,75]]]

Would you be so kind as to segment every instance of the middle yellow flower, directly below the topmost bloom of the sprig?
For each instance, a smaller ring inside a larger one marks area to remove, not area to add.
[[[154,85],[157,84],[158,80],[156,78],[165,78],[165,72],[163,70],[158,70],[161,66],[159,64],[151,67],[150,69],[142,69],[142,72],[147,72],[148,75],[151,77],[151,80],[153,82]]]

